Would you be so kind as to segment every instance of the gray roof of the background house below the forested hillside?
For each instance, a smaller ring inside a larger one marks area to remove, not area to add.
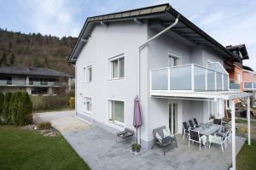
[[[0,68],[0,74],[11,75],[31,75],[31,76],[44,76],[44,77],[73,77],[61,71],[55,71],[48,68],[40,67],[5,67]]]

